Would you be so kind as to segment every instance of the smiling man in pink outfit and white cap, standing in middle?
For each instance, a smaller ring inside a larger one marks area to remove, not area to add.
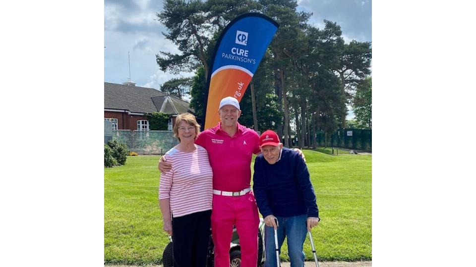
[[[208,151],[213,171],[212,235],[215,266],[230,266],[230,242],[237,226],[241,247],[241,266],[256,267],[258,262],[259,215],[251,192],[251,157],[260,153],[259,135],[238,123],[238,100],[225,97],[220,102],[221,122],[198,135],[195,143]],[[161,172],[170,164],[161,161]]]

